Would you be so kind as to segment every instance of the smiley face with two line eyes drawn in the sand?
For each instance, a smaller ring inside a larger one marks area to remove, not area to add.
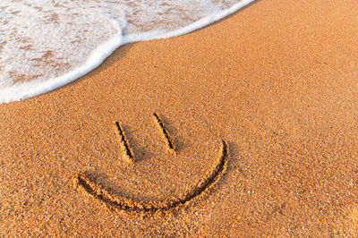
[[[162,132],[166,141],[166,149],[175,155],[175,147],[170,139],[169,133],[166,131],[166,127],[157,113],[154,113],[158,128]],[[120,123],[115,123],[115,131],[124,152],[124,159],[128,163],[135,163],[134,153],[125,136],[124,130]],[[113,212],[125,212],[129,215],[142,215],[154,213],[167,213],[175,211],[178,208],[187,206],[192,200],[200,198],[206,192],[210,191],[217,181],[226,173],[227,161],[228,161],[228,145],[225,140],[221,140],[221,153],[217,158],[215,164],[211,167],[209,172],[200,179],[192,188],[183,192],[177,198],[171,198],[167,200],[133,200],[128,197],[124,197],[108,191],[103,186],[94,183],[86,174],[76,174],[73,177],[73,183],[76,189],[82,191],[85,194],[90,195],[95,200],[103,203],[109,210]]]

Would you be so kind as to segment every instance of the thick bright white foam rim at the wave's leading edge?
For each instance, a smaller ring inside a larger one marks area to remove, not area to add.
[[[157,34],[153,31],[149,31],[127,36],[115,35],[109,40],[107,40],[107,42],[100,44],[97,48],[92,50],[84,64],[81,64],[79,67],[74,68],[70,72],[66,72],[59,77],[47,81],[24,81],[19,85],[12,85],[11,87],[6,89],[0,89],[0,103],[21,101],[28,98],[38,97],[45,93],[49,93],[55,89],[64,87],[72,81],[76,81],[81,77],[87,75],[88,73],[92,72],[93,70],[97,69],[110,55],[113,55],[115,50],[119,47],[141,41],[155,40],[161,38],[174,38],[189,34],[195,30],[205,28],[212,23],[221,21],[226,17],[230,16],[231,14],[240,11],[244,7],[250,4],[254,4],[255,1],[256,0],[241,0],[239,3],[234,4],[226,10],[223,10],[219,13],[213,13],[211,15],[201,18],[199,21],[192,22],[192,24],[189,24],[177,30],[169,30],[165,33]],[[24,90],[23,88],[25,88],[26,90]]]

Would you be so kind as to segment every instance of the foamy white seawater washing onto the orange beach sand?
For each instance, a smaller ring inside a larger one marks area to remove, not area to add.
[[[200,29],[254,0],[1,0],[0,103],[90,72],[126,43]]]

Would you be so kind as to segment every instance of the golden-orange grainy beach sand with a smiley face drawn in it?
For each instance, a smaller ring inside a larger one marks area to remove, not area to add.
[[[257,1],[0,105],[0,235],[358,235],[357,13]]]

